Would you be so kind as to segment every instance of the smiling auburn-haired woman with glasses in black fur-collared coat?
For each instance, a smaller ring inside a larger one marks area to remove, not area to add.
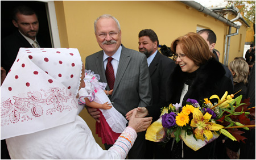
[[[233,93],[232,81],[225,77],[225,69],[215,60],[214,54],[210,52],[206,41],[200,35],[190,32],[178,37],[172,42],[171,50],[175,53],[178,65],[167,83],[169,90],[166,104],[181,103],[184,106],[188,98],[196,99],[201,103],[200,100],[209,98],[213,94],[221,97],[225,91]],[[166,104],[158,105],[166,106]],[[138,116],[155,116],[154,113],[157,112],[159,117],[160,111],[156,111],[155,108],[148,106],[134,110],[138,111]],[[133,110],[127,113],[127,118],[132,112]],[[212,159],[214,155],[214,142],[197,151],[188,148],[181,141],[172,145],[170,140],[167,146],[170,145],[172,150],[162,158]]]

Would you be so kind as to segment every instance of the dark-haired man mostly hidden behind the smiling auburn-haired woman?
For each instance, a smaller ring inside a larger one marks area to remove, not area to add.
[[[198,31],[197,34],[199,34],[201,37],[203,37],[203,39],[207,42],[210,51],[215,54],[215,58],[218,61],[218,55],[214,50],[214,47],[215,47],[215,44],[216,44],[216,39],[217,39],[215,33],[210,29],[204,29],[204,30]],[[225,76],[230,78],[231,81],[232,81],[232,84],[233,84],[233,75],[232,75],[232,73],[230,72],[230,70],[224,64],[222,64],[222,66],[226,71]]]

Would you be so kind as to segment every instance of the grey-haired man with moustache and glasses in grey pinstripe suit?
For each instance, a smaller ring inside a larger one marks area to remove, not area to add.
[[[121,44],[121,28],[117,19],[111,15],[102,15],[94,22],[94,31],[98,44],[103,49],[85,60],[85,69],[100,75],[101,82],[108,82],[105,75],[107,58],[112,57],[114,69],[114,87],[109,99],[123,116],[133,108],[151,104],[152,89],[147,60],[144,54],[125,48]],[[106,87],[110,89],[110,84]],[[87,107],[89,114],[98,121],[99,112]],[[129,159],[144,159],[146,150],[145,133],[138,137],[129,151]],[[109,149],[111,145],[105,145]]]

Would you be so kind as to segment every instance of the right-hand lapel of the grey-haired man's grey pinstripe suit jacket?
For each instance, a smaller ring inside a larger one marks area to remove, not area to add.
[[[119,65],[117,69],[117,75],[115,76],[113,94],[115,92],[115,89],[117,89],[119,83],[121,82],[123,74],[125,74],[125,70],[127,69],[127,66],[129,65],[130,60],[131,60],[131,57],[129,52],[127,52],[127,49],[122,45],[122,51],[121,51],[121,56],[120,56]]]

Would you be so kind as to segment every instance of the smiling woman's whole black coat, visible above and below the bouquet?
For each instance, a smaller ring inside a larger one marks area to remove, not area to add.
[[[193,73],[184,73],[180,66],[174,69],[174,73],[168,82],[168,89],[170,89],[169,103],[175,104],[180,102],[181,91],[183,90],[184,83],[189,85],[187,94],[185,94],[182,106],[186,104],[186,100],[196,99],[201,106],[200,100],[210,98],[213,94],[219,96],[224,95],[225,91],[228,94],[233,94],[232,81],[225,76],[225,69],[214,58],[208,60],[204,65]],[[217,102],[217,99],[211,99],[212,103]],[[215,142],[207,144],[203,148],[193,151],[184,145],[184,159],[213,159]],[[171,153],[171,159],[181,158],[181,142],[174,145]]]

